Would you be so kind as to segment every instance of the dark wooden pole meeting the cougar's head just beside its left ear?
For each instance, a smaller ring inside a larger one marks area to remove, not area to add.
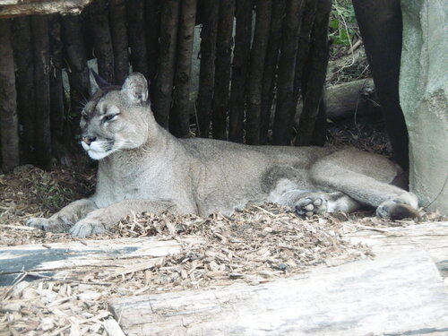
[[[98,73],[106,82],[115,82],[114,50],[108,19],[106,0],[96,0],[89,7],[94,55],[97,57]]]

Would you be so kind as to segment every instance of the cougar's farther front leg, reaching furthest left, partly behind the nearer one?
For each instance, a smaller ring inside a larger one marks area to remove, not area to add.
[[[30,218],[27,225],[33,228],[40,228],[49,232],[65,232],[79,220],[82,220],[88,213],[98,209],[95,202],[88,198],[83,198],[75,202],[71,202],[60,211],[56,212],[49,219]]]

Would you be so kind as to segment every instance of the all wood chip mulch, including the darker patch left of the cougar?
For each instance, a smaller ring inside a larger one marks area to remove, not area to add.
[[[46,184],[37,185],[33,180],[36,174],[39,178],[50,174],[46,177],[47,182],[44,180]],[[88,193],[93,177],[72,174],[45,173],[31,168],[1,176],[0,192],[5,194],[0,199],[0,246],[79,240],[67,234],[45,233],[23,225],[28,216],[49,212],[39,204],[40,188],[47,188],[47,195],[57,195],[62,202]],[[74,192],[70,187],[73,184],[79,187],[74,188]],[[424,214],[423,220],[443,218],[437,214]],[[391,223],[366,217],[365,212],[303,220],[290,209],[276,204],[252,205],[230,217],[220,214],[207,218],[168,213],[159,216],[135,214],[122,220],[112,232],[94,238],[157,237],[169,240],[196,236],[201,237],[203,243],[185,244],[180,253],[160,258],[159,263],[139,271],[121,272],[115,277],[89,268],[84,270],[81,281],[42,276],[29,282],[24,280],[25,273],[19,274],[13,286],[0,288],[0,336],[114,335],[117,324],[108,310],[111,298],[212,289],[236,282],[256,285],[311,271],[315,267],[372,258],[367,246],[349,244],[343,235],[358,229],[409,224],[413,221]],[[111,325],[115,325],[115,329]]]

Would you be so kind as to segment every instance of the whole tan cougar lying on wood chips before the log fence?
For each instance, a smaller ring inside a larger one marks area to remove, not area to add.
[[[157,124],[150,105],[141,73],[122,87],[99,85],[81,121],[82,147],[99,160],[95,194],[27,224],[86,237],[132,212],[207,216],[248,202],[277,202],[307,217],[365,205],[381,218],[417,215],[417,197],[400,187],[401,168],[380,155],[177,139]]]

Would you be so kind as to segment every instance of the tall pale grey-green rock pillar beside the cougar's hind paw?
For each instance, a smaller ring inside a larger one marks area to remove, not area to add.
[[[410,190],[420,206],[448,214],[448,6],[401,0],[400,100],[409,131]]]

